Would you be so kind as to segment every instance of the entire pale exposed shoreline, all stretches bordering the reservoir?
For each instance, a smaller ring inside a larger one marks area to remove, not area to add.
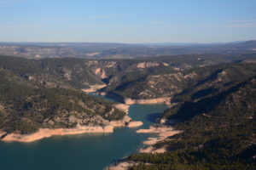
[[[95,93],[107,96],[105,93],[97,93],[97,91],[101,88],[106,87],[106,85],[96,85],[90,86],[88,89],[82,89],[82,91],[86,94]],[[114,98],[113,98],[114,99]],[[171,98],[157,98],[157,99],[124,99],[124,104],[115,105],[115,108],[120,111],[124,111],[126,116],[119,121],[109,122],[109,125],[101,127],[86,127],[86,126],[78,126],[76,128],[40,128],[37,133],[32,134],[19,134],[19,133],[9,133],[4,134],[2,141],[5,142],[24,142],[29,143],[39,139],[49,138],[51,136],[56,135],[72,135],[72,134],[81,134],[81,133],[113,133],[114,127],[139,127],[143,125],[143,122],[131,121],[131,117],[128,116],[130,105],[139,104],[139,105],[152,105],[152,104],[160,104],[165,103],[167,106],[171,106]],[[143,144],[148,144],[147,147],[141,148],[139,150],[140,153],[163,153],[166,151],[165,148],[154,149],[153,144],[157,142],[167,139],[169,136],[180,133],[179,131],[175,131],[172,127],[150,127],[149,129],[139,129],[137,133],[156,133],[158,137],[148,138],[146,141],[143,141]],[[1,136],[0,136],[1,137]],[[121,161],[117,165],[113,165],[108,167],[108,170],[121,170],[128,169],[129,167],[135,165],[135,162],[130,161]]]

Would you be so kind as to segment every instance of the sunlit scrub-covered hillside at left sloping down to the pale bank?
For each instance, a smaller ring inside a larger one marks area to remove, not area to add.
[[[44,88],[12,71],[0,69],[0,129],[5,132],[33,133],[39,127],[76,127],[78,123],[102,126],[125,116],[113,103],[79,90]]]

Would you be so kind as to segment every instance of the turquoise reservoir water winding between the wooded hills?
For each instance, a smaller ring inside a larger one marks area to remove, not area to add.
[[[150,134],[139,128],[154,124],[166,105],[131,105],[129,116],[142,127],[115,128],[113,133],[55,136],[32,143],[0,142],[0,170],[102,170],[143,146]]]

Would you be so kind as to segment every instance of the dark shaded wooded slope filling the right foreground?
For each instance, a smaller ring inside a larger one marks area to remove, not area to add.
[[[183,133],[155,144],[169,150],[164,154],[129,156],[129,161],[141,162],[131,169],[255,169],[255,99],[253,78],[166,111],[173,113],[169,119],[183,120],[174,126]]]

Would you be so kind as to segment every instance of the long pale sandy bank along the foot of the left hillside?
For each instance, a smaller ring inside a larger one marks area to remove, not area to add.
[[[80,134],[80,133],[113,133],[113,126],[106,127],[85,127],[76,128],[40,128],[37,133],[19,134],[10,133],[6,135],[3,141],[32,142],[38,139],[49,138],[55,135]]]

